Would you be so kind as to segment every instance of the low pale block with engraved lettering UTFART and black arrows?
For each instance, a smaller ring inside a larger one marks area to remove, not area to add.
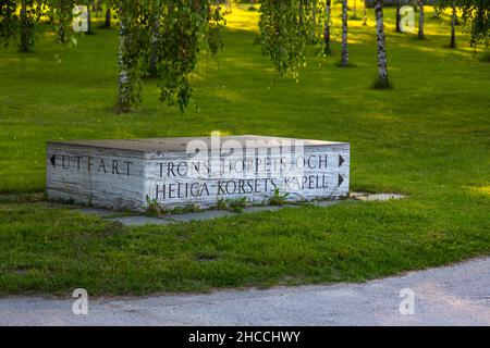
[[[350,159],[347,142],[253,135],[50,141],[47,195],[133,211],[339,199],[348,195]]]

